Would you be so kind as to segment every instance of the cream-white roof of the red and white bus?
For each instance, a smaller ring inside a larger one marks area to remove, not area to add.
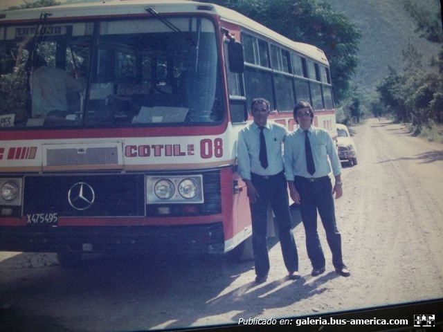
[[[266,28],[262,24],[249,19],[248,17],[221,6],[212,3],[201,3],[190,0],[114,0],[95,3],[75,3],[64,4],[60,6],[28,8],[21,10],[6,10],[0,14],[0,24],[4,21],[15,21],[17,23],[26,23],[26,21],[38,20],[42,12],[48,12],[50,19],[67,19],[75,17],[103,17],[113,15],[143,15],[145,8],[149,6],[154,8],[160,14],[163,13],[210,13],[219,15],[220,19],[233,24],[243,26],[248,30],[260,33],[287,48],[310,57],[326,66],[329,65],[325,53],[316,46],[294,42],[293,40],[275,33],[275,31]]]

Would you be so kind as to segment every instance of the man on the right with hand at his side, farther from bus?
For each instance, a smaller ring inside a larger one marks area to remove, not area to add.
[[[341,163],[334,142],[325,129],[312,125],[314,110],[308,102],[298,102],[293,117],[299,128],[289,133],[284,141],[284,169],[291,199],[300,204],[307,255],[313,267],[311,275],[315,277],[325,272],[325,255],[317,232],[318,211],[336,273],[349,277],[350,271],[343,263],[341,234],[336,226],[333,195],[336,194],[338,199],[343,195],[343,189]],[[331,171],[335,178],[334,187],[329,178]]]

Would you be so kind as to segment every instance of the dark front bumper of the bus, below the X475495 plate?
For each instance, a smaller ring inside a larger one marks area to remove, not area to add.
[[[224,252],[219,223],[172,226],[0,227],[0,250],[19,252]]]

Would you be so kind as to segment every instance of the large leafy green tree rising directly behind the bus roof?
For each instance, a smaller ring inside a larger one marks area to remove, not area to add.
[[[334,97],[343,100],[357,66],[361,32],[345,15],[315,0],[219,0],[296,42],[322,49],[330,63]]]

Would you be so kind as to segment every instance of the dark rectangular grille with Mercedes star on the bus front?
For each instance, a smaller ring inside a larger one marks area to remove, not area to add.
[[[24,214],[144,216],[144,182],[143,174],[26,176]],[[80,188],[82,196],[93,203],[75,200],[80,196]]]

